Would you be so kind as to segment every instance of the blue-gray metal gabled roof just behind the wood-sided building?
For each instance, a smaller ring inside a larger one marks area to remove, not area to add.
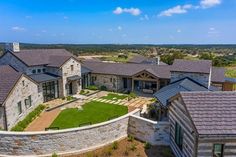
[[[163,107],[167,107],[168,100],[181,91],[208,91],[208,89],[192,79],[185,78],[163,87],[154,94],[154,97],[157,98]]]

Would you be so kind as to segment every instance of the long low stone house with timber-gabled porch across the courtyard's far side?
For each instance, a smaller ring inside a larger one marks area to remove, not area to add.
[[[106,86],[112,91],[153,94],[183,78],[190,78],[207,89],[232,90],[225,88],[224,68],[213,67],[211,61],[176,59],[173,65],[84,61],[82,65],[90,69],[87,75],[91,77],[91,84]],[[227,86],[233,86],[233,83],[227,83]]]

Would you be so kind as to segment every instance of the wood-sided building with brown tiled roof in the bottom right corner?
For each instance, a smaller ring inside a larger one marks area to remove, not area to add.
[[[180,92],[168,108],[176,157],[236,156],[236,92]]]

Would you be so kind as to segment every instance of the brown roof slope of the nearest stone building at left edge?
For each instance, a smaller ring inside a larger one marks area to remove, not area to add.
[[[0,104],[3,104],[21,76],[22,73],[9,65],[0,66]]]

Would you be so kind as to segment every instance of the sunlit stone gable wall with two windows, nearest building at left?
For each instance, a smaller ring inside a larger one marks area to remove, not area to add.
[[[38,85],[31,80],[22,76],[13,88],[12,92],[3,104],[6,111],[8,130],[43,102],[42,93],[38,91],[37,86]],[[25,99],[28,99],[29,96],[31,96],[32,106],[27,109],[25,106]],[[20,115],[18,114],[18,102],[21,102],[22,106],[22,113]],[[4,126],[1,127],[4,128]]]

